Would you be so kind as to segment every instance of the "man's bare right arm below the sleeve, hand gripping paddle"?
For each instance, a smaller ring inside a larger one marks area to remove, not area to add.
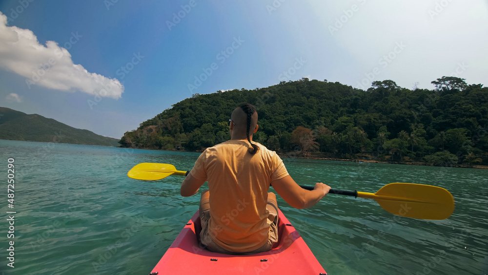
[[[328,185],[323,183],[315,184],[313,190],[301,188],[290,175],[271,182],[274,190],[287,202],[291,207],[304,209],[314,206],[330,190]]]

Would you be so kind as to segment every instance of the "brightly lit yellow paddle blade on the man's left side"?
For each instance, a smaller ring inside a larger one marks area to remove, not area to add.
[[[129,178],[138,180],[160,180],[177,172],[171,164],[140,163],[127,172]]]

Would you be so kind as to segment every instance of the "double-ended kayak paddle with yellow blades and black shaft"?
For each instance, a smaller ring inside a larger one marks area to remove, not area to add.
[[[130,169],[127,176],[139,180],[160,180],[169,175],[185,176],[187,173],[176,170],[171,164],[141,163]],[[300,187],[313,190],[312,186]],[[374,199],[387,212],[415,219],[443,220],[454,212],[454,198],[451,193],[431,185],[390,183],[376,193],[331,189],[329,194]]]

